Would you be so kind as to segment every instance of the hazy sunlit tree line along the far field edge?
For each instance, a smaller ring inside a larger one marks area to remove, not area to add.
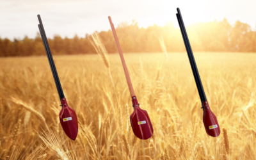
[[[193,51],[256,52],[256,31],[237,20],[234,26],[227,19],[222,21],[199,22],[186,27]],[[159,38],[163,37],[168,52],[186,51],[179,28],[172,22],[165,26],[139,28],[138,22],[122,23],[116,28],[123,52],[161,52]],[[109,53],[118,52],[111,30],[99,33]],[[95,49],[90,44],[90,35],[84,38],[49,38],[52,54],[90,54]],[[40,34],[35,38],[25,36],[23,40],[0,38],[0,56],[38,56],[45,55]]]

